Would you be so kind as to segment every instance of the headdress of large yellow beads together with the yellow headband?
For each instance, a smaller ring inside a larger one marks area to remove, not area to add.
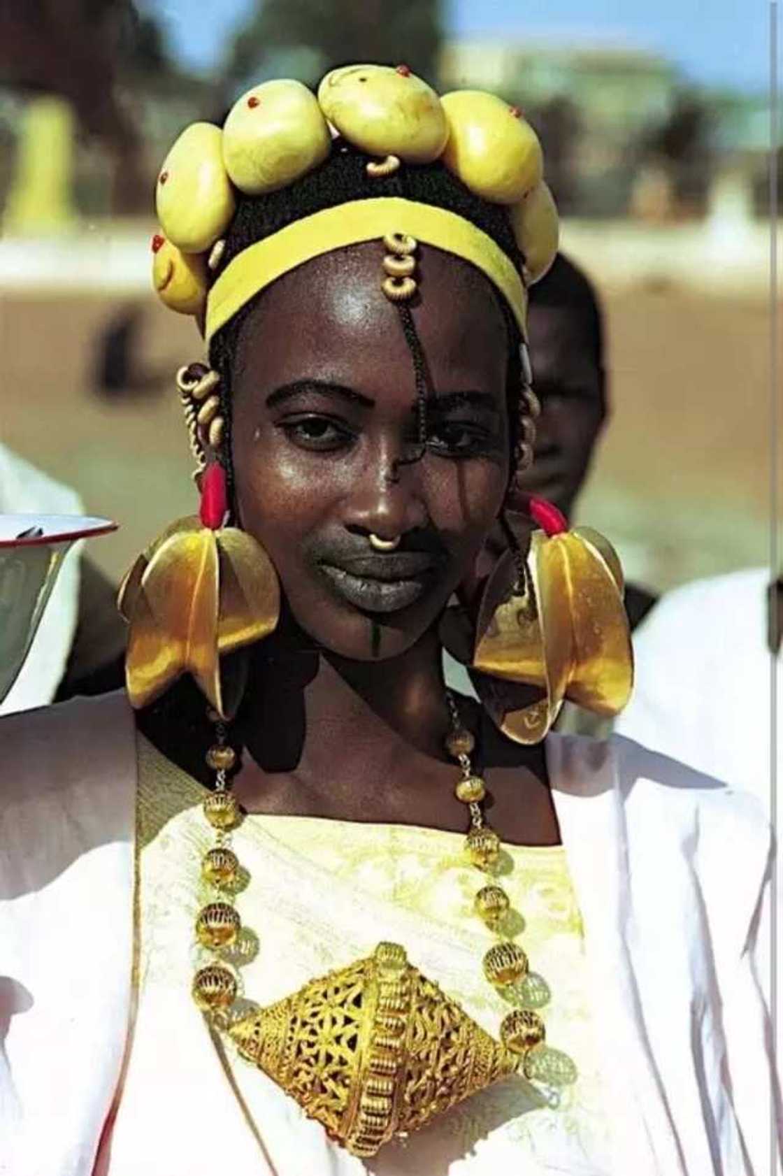
[[[381,180],[401,167],[439,161],[474,195],[506,206],[520,266],[464,218],[379,192],[294,220],[221,269],[237,194],[263,198],[285,189],[340,143],[367,155],[369,176]],[[404,66],[332,71],[317,96],[290,80],[255,86],[222,128],[196,122],[182,132],[158,175],[155,203],[162,229],[154,243],[155,288],[172,309],[202,321],[207,341],[287,270],[321,253],[387,238],[397,245],[413,239],[475,265],[524,334],[526,286],[548,269],[557,249],[541,146],[520,111],[477,91],[439,98]],[[389,296],[411,293],[408,267],[392,263]]]

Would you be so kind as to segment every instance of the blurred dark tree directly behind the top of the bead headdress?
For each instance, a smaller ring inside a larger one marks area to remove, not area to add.
[[[314,86],[360,61],[404,61],[434,82],[440,16],[440,0],[266,0],[234,39],[227,96],[281,72]]]

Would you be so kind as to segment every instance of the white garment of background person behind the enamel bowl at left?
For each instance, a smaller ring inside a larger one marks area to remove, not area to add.
[[[0,443],[0,514],[82,515],[75,490],[61,486]],[[54,697],[71,653],[79,613],[79,557],[68,552],[38,633],[16,681],[0,702],[0,714],[42,707]]]

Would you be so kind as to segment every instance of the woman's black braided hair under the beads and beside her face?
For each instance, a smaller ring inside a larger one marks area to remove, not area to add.
[[[367,156],[343,140],[337,140],[332,153],[320,167],[289,187],[261,198],[239,196],[236,212],[226,235],[221,269],[248,246],[280,232],[294,221],[302,220],[324,208],[376,196],[402,196],[419,203],[434,205],[462,216],[491,238],[514,266],[521,269],[523,258],[516,245],[508,214],[502,206],[491,205],[474,195],[439,162],[417,166],[403,165],[392,175],[370,176],[367,174]],[[513,470],[516,470],[524,463],[530,449],[527,443],[530,436],[530,426],[524,425],[527,407],[522,396],[524,383],[520,360],[522,339],[506,300],[489,282],[488,288],[491,289],[493,296],[501,307],[509,338],[507,403],[511,467]],[[226,453],[230,453],[230,376],[239,336],[262,294],[263,292],[260,292],[242,306],[221,327],[210,343],[209,362],[221,376],[221,412],[226,422]],[[397,465],[404,465],[419,460],[424,453],[429,389],[427,365],[413,315],[407,305],[399,302],[396,306],[414,366],[419,421],[419,453],[413,459],[397,462]],[[227,462],[227,467],[230,490],[233,476],[230,461]]]

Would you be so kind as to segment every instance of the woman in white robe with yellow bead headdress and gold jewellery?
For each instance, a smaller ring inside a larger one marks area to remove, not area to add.
[[[535,505],[483,583],[556,248],[535,136],[404,67],[270,82],[183,134],[158,211],[209,343],[201,523],[121,592],[135,722],[2,733],[8,1171],[761,1176],[764,822],[541,741],[628,693],[600,536]]]

